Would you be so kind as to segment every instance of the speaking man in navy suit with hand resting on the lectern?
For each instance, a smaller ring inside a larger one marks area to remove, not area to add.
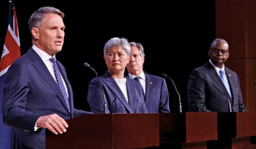
[[[3,121],[15,128],[14,148],[45,148],[45,129],[66,132],[66,119],[87,114],[74,109],[65,68],[56,61],[64,42],[64,13],[42,7],[29,19],[33,46],[8,69]]]

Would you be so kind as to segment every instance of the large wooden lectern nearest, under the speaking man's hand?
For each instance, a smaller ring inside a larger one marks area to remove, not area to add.
[[[87,114],[67,120],[67,132],[46,132],[46,149],[132,149],[159,146],[159,114]]]

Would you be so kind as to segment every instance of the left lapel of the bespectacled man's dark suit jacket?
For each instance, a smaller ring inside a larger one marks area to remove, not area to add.
[[[208,70],[210,71],[210,76],[218,84],[219,88],[226,94],[227,97],[229,97],[229,99],[231,99],[229,92],[227,92],[227,89],[221,80],[221,77],[219,77],[218,73],[216,72],[216,70],[214,69],[210,62],[208,62]]]

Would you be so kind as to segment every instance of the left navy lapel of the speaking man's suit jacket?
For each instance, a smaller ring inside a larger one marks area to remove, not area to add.
[[[29,55],[30,60],[34,61],[33,65],[34,65],[35,69],[37,69],[37,71],[42,75],[42,77],[45,79],[45,81],[51,86],[51,88],[54,90],[54,92],[60,98],[61,102],[63,103],[63,105],[65,106],[65,108],[68,111],[67,104],[65,102],[63,94],[61,93],[59,85],[57,84],[57,82],[54,80],[54,78],[50,74],[48,68],[46,67],[46,65],[44,64],[42,59],[32,48],[30,48],[27,53]]]

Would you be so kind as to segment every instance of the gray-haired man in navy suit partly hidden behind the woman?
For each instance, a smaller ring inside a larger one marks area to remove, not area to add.
[[[140,43],[129,43],[131,60],[127,65],[128,77],[140,84],[148,113],[166,113],[169,109],[169,94],[164,78],[148,75],[143,71],[144,49]]]

